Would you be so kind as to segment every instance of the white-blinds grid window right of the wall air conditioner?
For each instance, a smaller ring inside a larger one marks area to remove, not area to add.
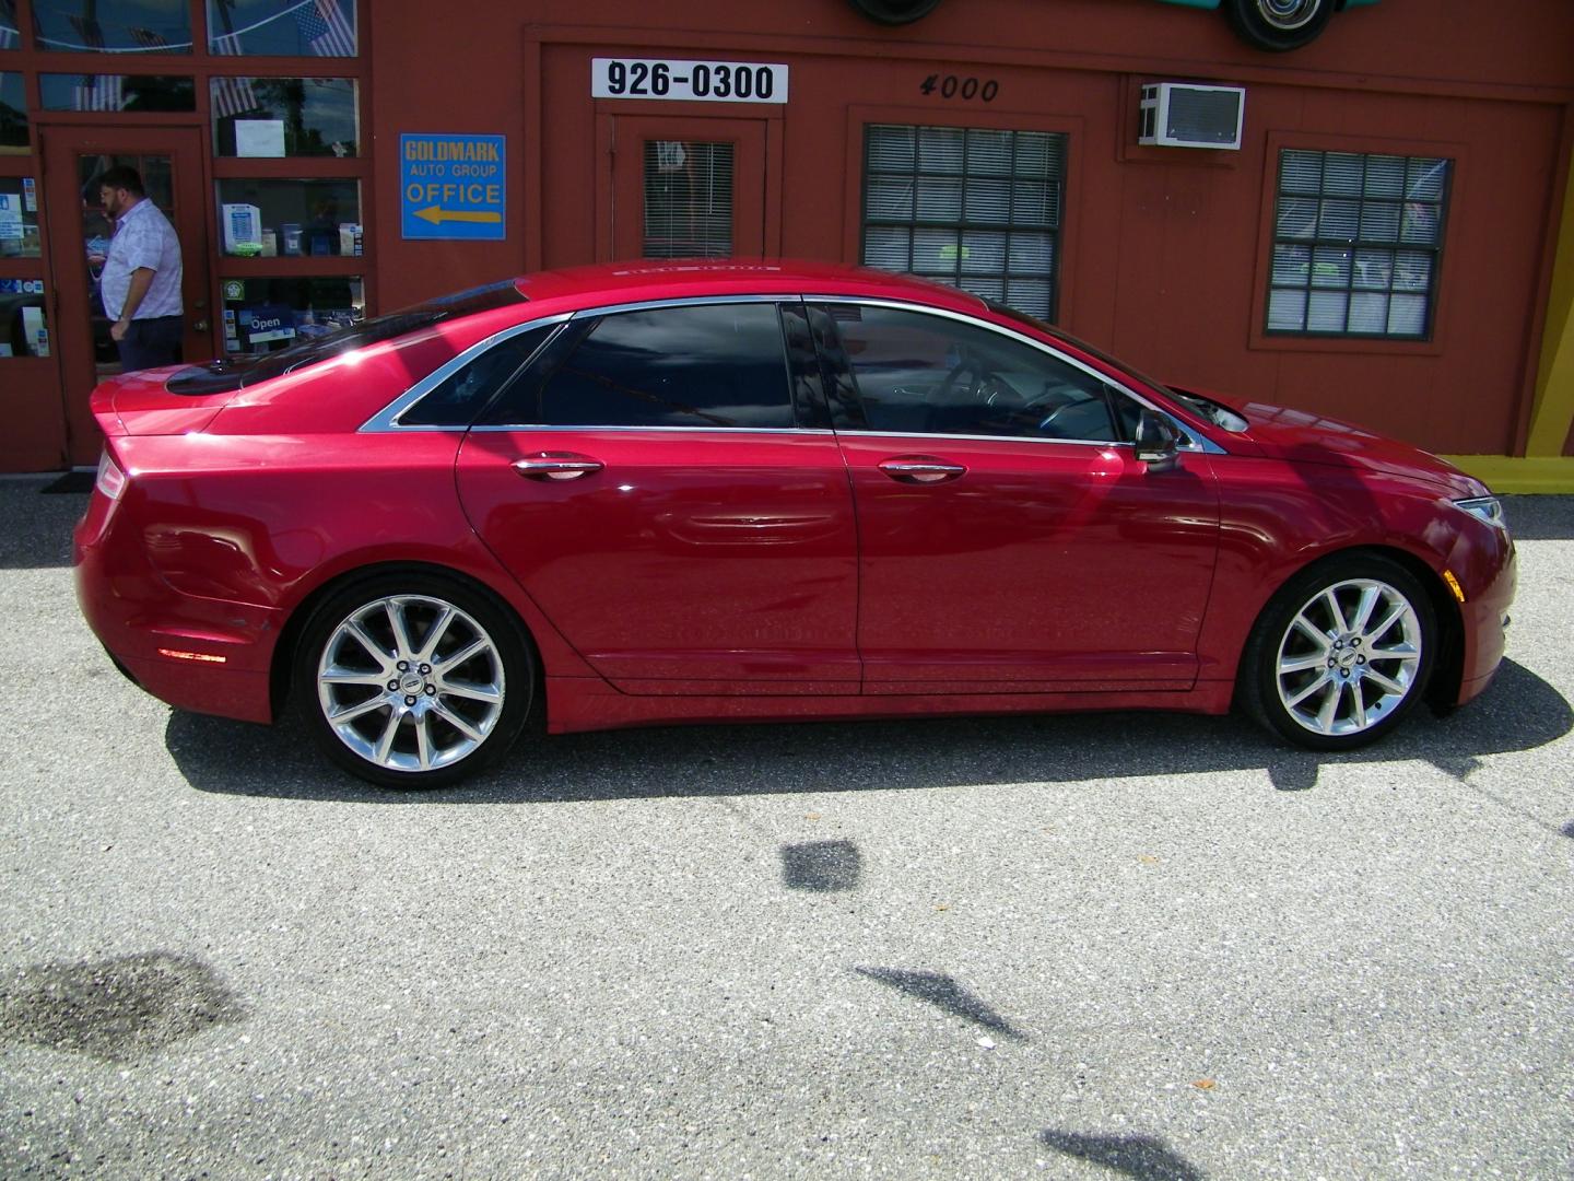
[[[1267,332],[1426,340],[1453,162],[1280,153]]]

